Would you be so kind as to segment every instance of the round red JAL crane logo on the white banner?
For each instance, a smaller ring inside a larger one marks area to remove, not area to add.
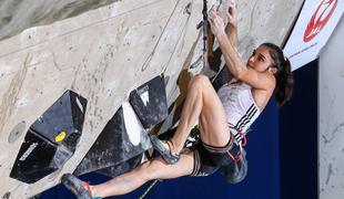
[[[333,14],[338,0],[323,0],[312,15],[306,31],[303,34],[303,41],[308,42],[325,27]]]

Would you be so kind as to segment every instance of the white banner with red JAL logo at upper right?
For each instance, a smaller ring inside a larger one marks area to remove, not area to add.
[[[344,11],[344,0],[305,0],[284,48],[296,70],[315,60]],[[343,38],[344,40],[344,38]]]

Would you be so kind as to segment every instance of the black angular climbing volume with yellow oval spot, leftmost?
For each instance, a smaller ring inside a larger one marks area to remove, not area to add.
[[[87,100],[67,91],[30,126],[10,177],[33,184],[61,168],[75,151]]]

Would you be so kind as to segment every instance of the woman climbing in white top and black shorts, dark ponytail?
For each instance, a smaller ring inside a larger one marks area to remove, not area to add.
[[[194,76],[173,137],[162,142],[151,136],[161,157],[100,185],[89,186],[72,175],[64,175],[62,181],[72,184],[69,187],[73,187],[75,195],[81,198],[118,196],[131,192],[152,179],[208,176],[217,169],[230,182],[239,182],[245,177],[245,132],[273,94],[277,105],[290,100],[293,75],[290,61],[272,43],[261,44],[244,62],[236,51],[235,3],[230,3],[226,17],[229,22],[224,25],[216,10],[211,9],[209,21],[234,78],[215,92],[209,77]],[[180,154],[198,121],[201,140],[188,153]]]

